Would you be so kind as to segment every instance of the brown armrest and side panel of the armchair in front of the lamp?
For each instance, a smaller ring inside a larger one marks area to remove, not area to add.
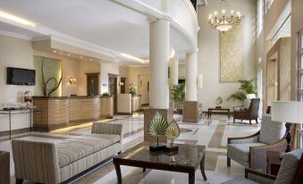
[[[251,169],[266,169],[267,151],[283,152],[286,148],[286,141],[283,138],[281,141],[272,145],[251,146],[249,148],[249,168]]]

